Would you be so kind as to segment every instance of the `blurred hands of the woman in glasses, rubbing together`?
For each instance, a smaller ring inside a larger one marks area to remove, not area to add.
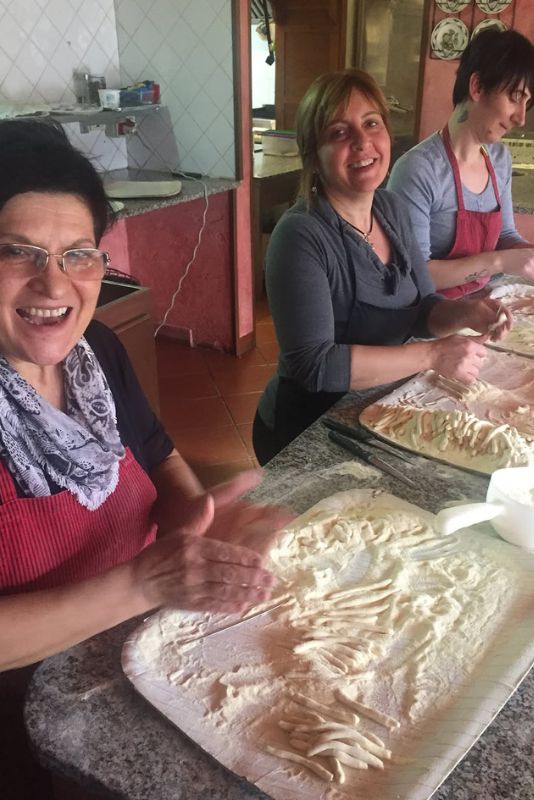
[[[133,562],[134,579],[151,608],[230,613],[270,597],[275,578],[262,567],[262,557],[289,515],[247,503],[219,511],[210,495],[204,497],[204,531],[170,533]]]

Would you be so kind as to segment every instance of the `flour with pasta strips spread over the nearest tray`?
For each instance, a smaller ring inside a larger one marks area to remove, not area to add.
[[[273,797],[323,797],[321,784],[353,797],[447,713],[521,594],[514,548],[469,532],[459,542],[391,495],[333,495],[282,534],[268,564],[279,593],[259,613],[165,611],[140,651],[221,737],[224,763],[248,774],[233,742],[247,763],[283,768],[278,795],[266,767],[251,778]]]

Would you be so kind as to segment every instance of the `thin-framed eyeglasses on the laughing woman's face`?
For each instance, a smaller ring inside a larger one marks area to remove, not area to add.
[[[33,244],[0,244],[0,271],[10,270],[21,278],[31,278],[43,272],[50,256],[63,272],[80,281],[99,280],[111,262],[109,253],[92,247],[49,253]]]

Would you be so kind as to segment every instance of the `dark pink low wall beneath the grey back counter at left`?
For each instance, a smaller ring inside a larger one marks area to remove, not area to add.
[[[164,329],[191,344],[227,351],[234,349],[232,194],[209,196],[202,242]],[[158,324],[193,255],[203,211],[203,198],[178,203],[119,220],[102,239],[112,265],[152,289]]]

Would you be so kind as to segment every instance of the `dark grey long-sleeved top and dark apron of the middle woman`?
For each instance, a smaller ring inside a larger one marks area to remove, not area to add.
[[[421,299],[410,336],[428,336],[426,320],[441,299],[396,195],[375,193],[373,211],[388,235],[393,261],[374,251],[323,198],[308,211],[302,199],[287,211],[269,243],[266,284],[280,345],[278,372],[260,399],[259,413],[274,429],[278,378],[308,392],[346,392],[351,380],[351,344],[388,344],[388,333],[367,324],[350,343],[341,343],[355,303],[401,309]]]

